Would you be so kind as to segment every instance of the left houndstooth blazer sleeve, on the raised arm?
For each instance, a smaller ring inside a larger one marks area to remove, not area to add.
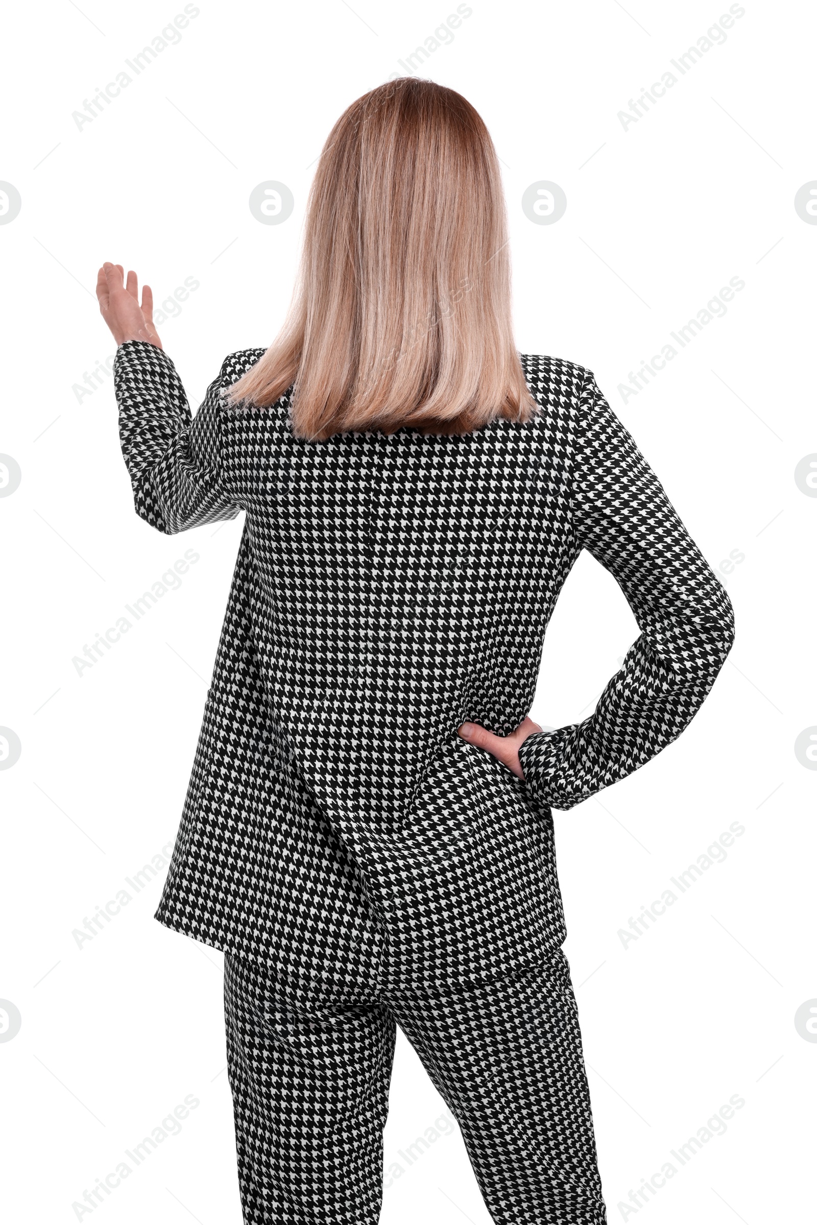
[[[234,519],[241,507],[224,480],[222,374],[191,417],[167,353],[148,341],[125,341],[114,360],[114,391],[140,518],[168,535]]]

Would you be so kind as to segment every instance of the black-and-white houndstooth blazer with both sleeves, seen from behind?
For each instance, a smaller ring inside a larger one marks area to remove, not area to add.
[[[116,353],[136,512],[174,533],[245,512],[156,918],[282,976],[383,986],[521,967],[566,938],[551,807],[638,769],[699,709],[729,597],[657,475],[570,361],[522,356],[533,421],[295,439],[225,390],[191,418],[173,361]],[[525,740],[524,782],[457,735],[529,712],[587,549],[639,627],[594,712]]]

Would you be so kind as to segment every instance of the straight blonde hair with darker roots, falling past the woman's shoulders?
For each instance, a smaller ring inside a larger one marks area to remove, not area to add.
[[[229,398],[269,405],[290,387],[293,431],[311,440],[533,415],[499,160],[453,89],[401,77],[329,132],[284,326]]]

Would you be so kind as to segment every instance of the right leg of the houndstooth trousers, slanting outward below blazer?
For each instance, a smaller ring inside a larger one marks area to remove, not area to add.
[[[390,1006],[459,1123],[496,1225],[605,1225],[561,949],[502,980],[401,992]]]

